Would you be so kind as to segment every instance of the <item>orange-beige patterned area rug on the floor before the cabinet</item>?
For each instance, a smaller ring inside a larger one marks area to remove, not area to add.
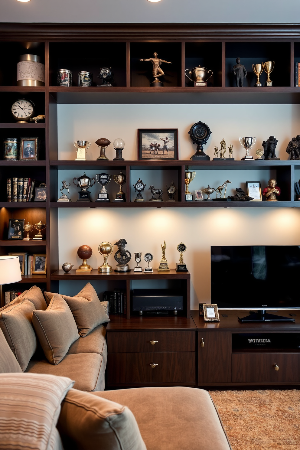
[[[300,450],[300,390],[209,392],[233,450]]]

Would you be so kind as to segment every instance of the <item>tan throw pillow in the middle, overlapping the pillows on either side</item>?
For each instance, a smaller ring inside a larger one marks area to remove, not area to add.
[[[72,312],[59,294],[54,295],[46,311],[33,312],[32,323],[51,364],[58,364],[79,338]]]

